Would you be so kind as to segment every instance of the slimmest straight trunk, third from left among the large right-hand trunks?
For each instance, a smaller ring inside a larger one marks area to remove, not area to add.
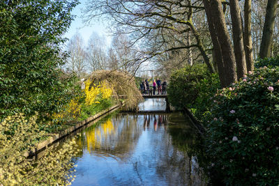
[[[246,67],[248,71],[254,70],[252,56],[252,34],[251,34],[251,0],[244,3],[244,49],[246,56]]]

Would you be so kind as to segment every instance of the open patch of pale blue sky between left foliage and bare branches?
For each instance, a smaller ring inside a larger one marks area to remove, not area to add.
[[[100,36],[105,36],[107,38],[107,45],[110,45],[110,42],[112,40],[112,33],[109,33],[106,30],[106,25],[103,22],[98,22],[96,20],[93,20],[91,22],[90,26],[84,26],[82,20],[82,8],[85,8],[87,0],[80,0],[80,4],[74,8],[72,11],[73,15],[76,15],[75,20],[70,24],[70,29],[65,33],[65,37],[70,39],[75,35],[75,33],[80,33],[82,38],[84,39],[84,44],[87,44],[87,41],[89,40],[91,33],[95,31]]]

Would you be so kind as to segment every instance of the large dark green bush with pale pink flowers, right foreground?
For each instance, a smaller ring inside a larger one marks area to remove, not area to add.
[[[227,185],[278,185],[279,68],[250,72],[213,102],[206,138],[211,171]]]

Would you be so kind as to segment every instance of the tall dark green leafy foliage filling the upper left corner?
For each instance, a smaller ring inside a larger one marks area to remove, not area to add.
[[[50,118],[69,100],[70,79],[59,65],[62,34],[77,1],[0,2],[0,119],[23,112]]]

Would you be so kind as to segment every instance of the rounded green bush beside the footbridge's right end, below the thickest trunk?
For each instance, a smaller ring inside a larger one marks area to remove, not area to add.
[[[217,88],[220,88],[217,74],[210,74],[206,65],[193,65],[174,72],[167,90],[173,106],[186,107],[199,121],[204,121]]]

